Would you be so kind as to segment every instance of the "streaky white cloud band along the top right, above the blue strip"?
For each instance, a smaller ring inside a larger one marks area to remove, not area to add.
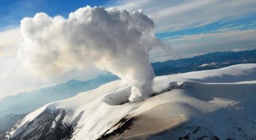
[[[226,18],[255,13],[255,0],[122,1],[120,9],[143,9],[157,24],[158,32],[203,26]]]

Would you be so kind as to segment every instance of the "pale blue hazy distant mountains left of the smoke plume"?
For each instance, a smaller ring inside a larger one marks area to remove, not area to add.
[[[20,93],[17,96],[8,96],[0,100],[0,117],[4,117],[7,114],[28,113],[51,101],[70,98],[77,95],[77,93],[93,90],[115,79],[117,77],[105,74],[88,81],[71,80],[32,92]]]

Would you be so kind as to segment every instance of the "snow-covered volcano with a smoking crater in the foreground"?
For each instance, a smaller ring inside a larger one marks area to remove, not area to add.
[[[256,139],[256,64],[155,77],[128,102],[120,80],[46,104],[3,139]]]

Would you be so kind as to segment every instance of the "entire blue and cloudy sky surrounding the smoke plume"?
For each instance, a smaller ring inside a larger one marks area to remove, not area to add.
[[[0,98],[93,75],[69,75],[44,82],[31,79],[27,71],[17,68],[20,20],[38,12],[68,18],[70,12],[86,5],[142,9],[154,20],[155,35],[166,44],[166,48],[152,50],[152,61],[256,49],[255,0],[0,0],[0,90],[4,91]]]

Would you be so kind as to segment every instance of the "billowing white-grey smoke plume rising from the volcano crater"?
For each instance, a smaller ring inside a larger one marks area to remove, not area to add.
[[[138,101],[151,92],[154,79],[149,52],[161,43],[153,29],[141,11],[83,7],[67,19],[38,13],[21,20],[19,57],[43,77],[93,63],[128,82],[129,100]]]

